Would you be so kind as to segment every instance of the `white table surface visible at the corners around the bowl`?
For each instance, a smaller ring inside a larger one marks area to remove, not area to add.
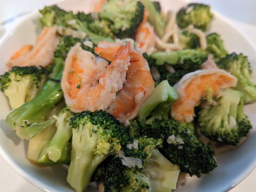
[[[54,0],[0,0],[0,39],[16,23],[19,23],[27,13],[42,8]],[[256,47],[256,0],[205,0],[224,16],[242,33],[250,39]],[[219,6],[221,3],[222,6]],[[239,15],[244,3],[250,3],[251,9],[246,14]],[[226,7],[232,4],[229,11]],[[239,16],[239,17],[238,17]],[[254,33],[252,33],[254,32]],[[256,192],[256,169],[241,183],[234,186],[230,192]],[[0,191],[1,192],[42,192],[34,185],[24,180],[0,156]]]

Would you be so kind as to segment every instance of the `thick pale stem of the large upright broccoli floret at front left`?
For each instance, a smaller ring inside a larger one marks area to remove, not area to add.
[[[98,135],[87,126],[90,125],[81,124],[73,128],[72,154],[67,181],[76,192],[85,191],[95,169],[107,158],[107,156],[95,154]]]

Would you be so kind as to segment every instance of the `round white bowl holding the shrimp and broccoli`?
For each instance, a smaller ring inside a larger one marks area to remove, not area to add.
[[[91,2],[91,1],[88,1]],[[177,10],[187,3],[187,0],[161,0],[164,10]],[[81,5],[81,3],[83,5]],[[86,0],[60,1],[61,8],[74,11],[88,11],[90,7]],[[83,8],[82,8],[83,7]],[[87,8],[87,10],[86,10]],[[39,13],[29,15],[17,25],[0,42],[1,74],[7,70],[5,63],[12,53],[24,44],[34,44],[40,33],[38,23]],[[218,32],[229,52],[244,53],[251,63],[256,63],[256,49],[250,42],[230,25],[224,17],[215,12],[215,19],[209,32]],[[255,70],[256,66],[251,65]],[[256,79],[255,73],[253,78]],[[255,80],[256,82],[256,80]],[[36,166],[26,158],[27,141],[20,140],[8,124],[5,117],[10,112],[6,98],[0,93],[0,153],[7,162],[17,170],[26,180],[42,190],[50,192],[73,192],[66,182],[67,169],[65,166]],[[245,107],[245,113],[256,124],[256,104]],[[255,127],[251,130],[248,141],[235,150],[216,157],[218,168],[200,179],[193,177],[187,180],[184,186],[179,186],[175,192],[223,192],[234,184],[242,181],[256,167],[256,133]],[[89,192],[96,192],[94,187]]]

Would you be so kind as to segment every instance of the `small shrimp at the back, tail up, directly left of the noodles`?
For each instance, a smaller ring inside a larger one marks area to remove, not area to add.
[[[136,33],[136,47],[140,47],[143,53],[151,54],[154,51],[157,35],[154,33],[154,28],[147,22],[149,12],[145,11],[142,23],[140,23]]]

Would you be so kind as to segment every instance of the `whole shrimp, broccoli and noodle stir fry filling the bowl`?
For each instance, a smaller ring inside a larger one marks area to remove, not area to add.
[[[256,85],[247,56],[209,33],[210,6],[99,0],[89,13],[39,12],[37,41],[0,76],[6,122],[29,140],[29,161],[66,165],[74,191],[96,181],[100,192],[171,192],[246,142]]]

